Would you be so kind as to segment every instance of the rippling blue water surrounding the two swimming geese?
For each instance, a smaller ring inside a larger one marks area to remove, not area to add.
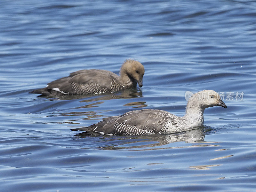
[[[0,191],[255,191],[255,11],[251,0],[1,1]],[[118,73],[127,58],[145,66],[142,88],[28,94],[80,69]],[[70,130],[136,109],[181,116],[185,92],[203,89],[228,108],[206,109],[196,130]]]

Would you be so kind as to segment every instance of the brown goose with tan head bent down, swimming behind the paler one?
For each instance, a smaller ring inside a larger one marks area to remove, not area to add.
[[[136,60],[127,59],[121,69],[120,76],[100,69],[85,69],[70,73],[50,83],[45,88],[36,89],[29,93],[41,96],[61,96],[79,94],[103,94],[134,88],[137,83],[142,87],[144,66]]]

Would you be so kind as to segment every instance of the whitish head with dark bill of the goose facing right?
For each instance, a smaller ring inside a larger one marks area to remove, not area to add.
[[[221,106],[227,108],[227,105],[220,99],[220,95],[213,90],[203,90],[195,93],[189,99],[189,103],[193,100],[197,105],[199,104],[203,109],[213,106]]]

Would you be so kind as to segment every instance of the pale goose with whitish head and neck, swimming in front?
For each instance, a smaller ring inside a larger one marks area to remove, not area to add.
[[[129,111],[121,116],[108,117],[89,127],[73,128],[71,130],[108,135],[142,135],[188,131],[203,126],[204,109],[213,106],[227,108],[217,92],[203,90],[190,97],[186,114],[183,117],[173,115],[167,111],[143,109]]]

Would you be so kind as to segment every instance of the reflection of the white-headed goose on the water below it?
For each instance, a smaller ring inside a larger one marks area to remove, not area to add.
[[[77,134],[74,139],[81,137],[92,137],[97,135],[101,137],[101,141],[98,141],[97,149],[103,150],[158,150],[158,149],[171,149],[171,148],[188,148],[188,147],[205,147],[205,146],[218,146],[204,141],[204,137],[207,134],[214,133],[214,130],[209,126],[200,127],[197,129],[184,131],[174,134],[150,134],[150,135],[120,135],[120,136],[108,136],[100,135],[97,133],[86,134],[85,132]],[[164,146],[173,142],[186,142],[193,143],[195,145],[190,146]],[[79,148],[86,148],[86,146],[80,146]]]

